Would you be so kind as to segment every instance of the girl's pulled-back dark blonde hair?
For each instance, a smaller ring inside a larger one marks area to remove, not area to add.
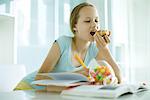
[[[80,10],[83,8],[83,7],[86,7],[86,6],[91,6],[91,7],[94,7],[94,5],[90,4],[90,3],[87,3],[87,2],[83,2],[79,5],[77,5],[71,12],[71,15],[70,15],[70,28],[71,28],[71,31],[75,34],[75,30],[74,30],[74,27],[75,27],[75,24],[77,23],[78,21],[78,18],[79,18],[79,12]]]

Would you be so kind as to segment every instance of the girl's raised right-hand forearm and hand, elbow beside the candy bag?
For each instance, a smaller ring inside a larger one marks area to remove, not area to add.
[[[100,34],[95,34],[94,39],[96,41],[96,45],[99,49],[98,55],[96,57],[96,60],[106,60],[112,67],[112,69],[115,72],[115,76],[118,79],[118,83],[121,83],[121,73],[119,66],[116,64],[115,60],[113,59],[107,44],[110,42],[109,37],[105,35],[102,37]]]

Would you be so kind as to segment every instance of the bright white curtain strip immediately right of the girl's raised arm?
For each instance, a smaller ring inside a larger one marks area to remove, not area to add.
[[[127,0],[111,1],[112,54],[121,68],[124,81],[129,81]]]

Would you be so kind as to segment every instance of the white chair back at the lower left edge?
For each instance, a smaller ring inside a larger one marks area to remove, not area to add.
[[[0,64],[0,92],[13,91],[25,75],[24,65]]]

